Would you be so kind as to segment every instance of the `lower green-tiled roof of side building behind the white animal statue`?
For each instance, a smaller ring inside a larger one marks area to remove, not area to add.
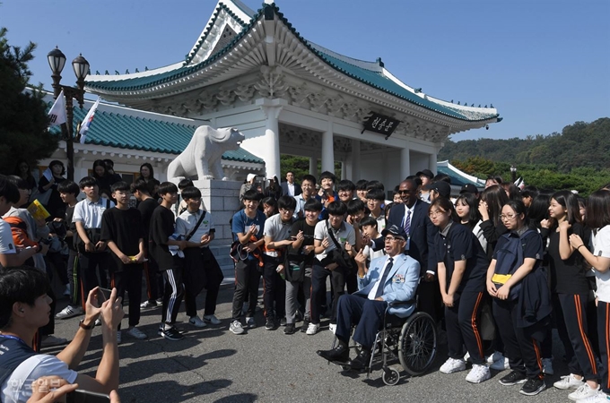
[[[48,107],[51,107],[51,103]],[[76,124],[83,121],[89,107],[74,107],[74,132]],[[198,125],[170,123],[154,118],[129,116],[98,109],[87,133],[86,144],[97,144],[127,150],[144,150],[179,154],[193,137]],[[247,150],[231,150],[222,159],[263,164],[265,161]]]

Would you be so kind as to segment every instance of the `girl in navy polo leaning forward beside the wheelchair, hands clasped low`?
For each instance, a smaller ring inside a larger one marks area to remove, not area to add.
[[[491,374],[485,364],[479,320],[483,307],[485,274],[489,263],[475,234],[459,224],[453,203],[445,197],[431,202],[428,215],[439,232],[435,238],[440,294],[445,304],[449,359],[441,373],[466,370],[464,345],[473,362],[466,381],[479,383]]]

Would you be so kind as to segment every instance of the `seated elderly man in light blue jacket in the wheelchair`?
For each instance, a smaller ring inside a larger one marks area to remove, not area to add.
[[[391,306],[388,313],[406,318],[415,310],[414,298],[419,281],[420,265],[405,255],[406,234],[403,227],[391,226],[383,230],[385,256],[370,262],[362,251],[356,256],[358,263],[358,291],[339,298],[336,318],[337,347],[319,350],[318,356],[328,361],[348,364],[353,370],[362,370],[370,363],[370,350],[375,335],[383,322],[388,304],[398,301],[405,304]],[[353,339],[362,346],[361,352],[349,360],[348,342],[352,324],[358,323]]]

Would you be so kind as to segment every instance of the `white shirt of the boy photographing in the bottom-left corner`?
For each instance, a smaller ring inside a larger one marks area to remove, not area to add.
[[[68,383],[74,383],[78,373],[68,368],[57,356],[39,354],[30,356],[11,373],[0,387],[4,403],[25,403],[31,397],[31,382],[41,376],[57,375]]]

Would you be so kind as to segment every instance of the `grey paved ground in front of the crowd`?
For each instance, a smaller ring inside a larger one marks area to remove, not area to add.
[[[181,327],[187,331],[181,341],[157,336],[160,310],[143,313],[141,327],[148,340],[123,335],[119,347],[119,390],[124,403],[129,402],[309,402],[309,401],[384,401],[384,402],[560,402],[570,401],[562,390],[550,387],[536,397],[518,393],[518,386],[506,387],[497,382],[501,373],[479,385],[464,380],[466,373],[445,375],[438,372],[445,359],[441,347],[430,373],[420,377],[404,376],[396,386],[381,381],[380,370],[365,374],[342,373],[341,368],[327,364],[316,350],[327,349],[333,335],[323,327],[315,336],[283,334],[283,328],[264,328],[262,312],[257,313],[260,327],[236,336],[229,332],[232,288],[223,286],[217,316],[222,325],[196,329],[187,324],[184,307],[179,313]],[[200,305],[203,305],[201,297]],[[65,301],[58,304],[63,308]],[[57,321],[57,336],[71,338],[79,317]],[[126,320],[123,321],[126,326]],[[323,325],[327,323],[323,322]],[[100,362],[100,330],[93,330],[90,350],[79,368],[95,373]],[[555,338],[556,339],[556,338]],[[555,340],[554,355],[562,357],[562,347]],[[57,352],[57,348],[46,352]],[[547,383],[567,373],[561,359],[555,360],[555,375]]]

